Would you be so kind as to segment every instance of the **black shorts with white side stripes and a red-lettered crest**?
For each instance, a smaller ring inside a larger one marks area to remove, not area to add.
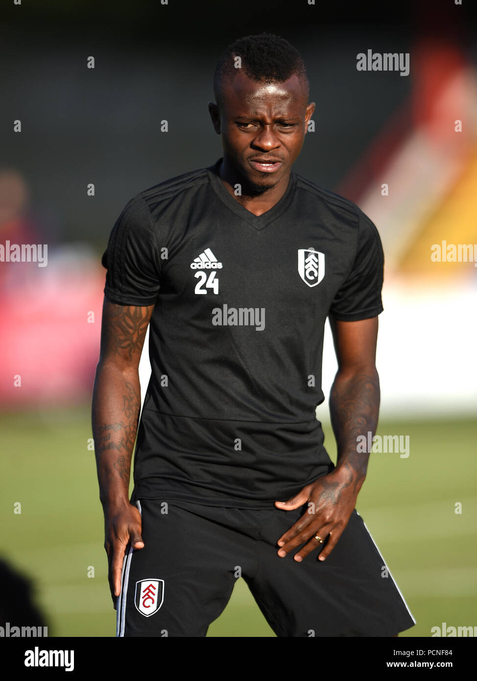
[[[394,636],[414,620],[376,544],[353,511],[327,560],[320,545],[301,563],[277,541],[293,511],[136,501],[144,548],[128,548],[117,601],[117,636],[203,637],[244,577],[282,636]]]

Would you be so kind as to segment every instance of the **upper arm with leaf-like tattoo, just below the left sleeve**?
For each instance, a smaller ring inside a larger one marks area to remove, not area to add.
[[[104,297],[99,362],[137,369],[154,305],[119,305]]]

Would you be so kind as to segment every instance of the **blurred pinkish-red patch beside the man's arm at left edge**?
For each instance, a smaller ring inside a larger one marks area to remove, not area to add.
[[[46,267],[1,263],[7,268],[0,291],[3,406],[91,398],[105,270],[81,249],[73,244],[48,253]]]

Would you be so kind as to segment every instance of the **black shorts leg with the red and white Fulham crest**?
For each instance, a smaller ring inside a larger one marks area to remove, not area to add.
[[[139,500],[144,548],[127,550],[117,636],[205,636],[227,605],[235,577],[221,548],[226,530],[191,505]],[[229,546],[233,555],[233,548]]]

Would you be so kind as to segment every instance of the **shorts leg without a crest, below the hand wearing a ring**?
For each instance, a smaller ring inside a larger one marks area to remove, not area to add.
[[[254,599],[278,636],[393,636],[415,624],[374,540],[353,511],[327,560],[324,545],[293,560],[277,555],[278,538],[306,511],[267,511],[259,569],[248,581]]]

